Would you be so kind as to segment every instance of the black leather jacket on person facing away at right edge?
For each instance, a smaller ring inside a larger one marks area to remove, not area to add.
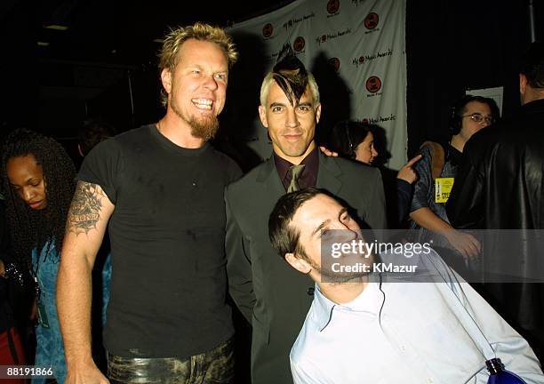
[[[501,315],[544,340],[544,100],[468,140],[447,203],[454,228],[484,233],[482,276]],[[540,238],[538,238],[540,236]]]

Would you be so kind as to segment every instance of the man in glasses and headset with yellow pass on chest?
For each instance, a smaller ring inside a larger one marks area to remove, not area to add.
[[[415,166],[416,182],[410,212],[410,228],[420,228],[418,241],[431,241],[453,268],[462,270],[480,252],[480,244],[468,233],[455,230],[446,216],[445,203],[452,189],[465,143],[499,116],[493,100],[466,95],[452,108],[451,140],[446,148],[426,142]]]

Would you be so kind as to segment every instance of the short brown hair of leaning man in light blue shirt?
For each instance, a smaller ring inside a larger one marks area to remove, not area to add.
[[[268,218],[268,237],[272,247],[284,258],[285,253],[295,253],[306,258],[300,245],[300,231],[292,228],[291,221],[300,206],[317,195],[324,194],[319,188],[303,188],[281,196]]]

